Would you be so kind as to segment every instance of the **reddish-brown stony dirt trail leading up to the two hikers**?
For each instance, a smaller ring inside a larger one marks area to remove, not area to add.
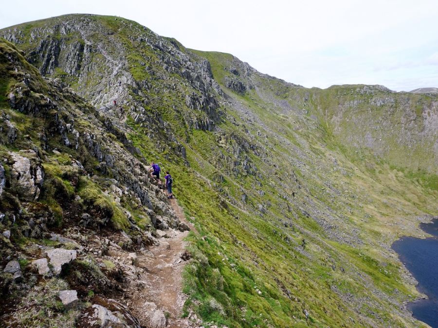
[[[193,229],[176,200],[171,199],[170,203],[179,220]],[[192,322],[181,318],[185,301],[185,295],[182,293],[182,275],[186,263],[181,257],[184,254],[184,238],[188,231],[169,229],[166,230],[166,234],[169,238],[160,238],[159,246],[151,247],[137,255],[137,265],[145,270],[139,276],[141,286],[129,288],[129,308],[145,327],[150,327],[149,318],[154,311],[154,306],[147,302],[155,303],[158,310],[167,313],[166,327],[194,327]]]

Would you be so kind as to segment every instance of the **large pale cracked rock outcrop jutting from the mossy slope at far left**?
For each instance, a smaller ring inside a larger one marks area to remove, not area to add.
[[[11,187],[17,190],[26,201],[37,200],[43,181],[37,153],[33,150],[9,153],[12,162]]]

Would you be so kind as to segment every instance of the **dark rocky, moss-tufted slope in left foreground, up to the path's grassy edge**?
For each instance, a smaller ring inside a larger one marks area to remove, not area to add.
[[[147,293],[154,289],[149,270],[161,272],[161,260],[154,258],[161,259],[161,251],[168,253],[169,242],[171,252],[183,254],[189,227],[180,221],[181,210],[168,202],[144,158],[113,144],[89,105],[57,82],[43,80],[12,45],[0,45],[1,73],[13,85],[9,102],[34,122],[32,135],[23,136],[17,132],[17,112],[1,112],[7,137],[3,141],[25,148],[1,150],[1,225],[10,227],[1,239],[1,258],[6,261],[1,288],[21,295],[14,308],[3,300],[1,320],[12,326],[34,326],[40,320],[44,326],[63,326],[73,323],[70,316],[80,311],[81,327],[140,327],[128,306],[110,297],[124,299],[141,286],[141,297],[155,299]],[[83,115],[94,122],[92,131],[81,121]],[[72,149],[75,157],[69,155]],[[111,178],[102,176],[110,172]],[[62,227],[57,221],[61,218]],[[165,275],[175,281],[167,303],[157,302],[159,311],[171,313],[164,326],[181,316],[177,296],[182,297],[185,260],[175,259],[166,269]],[[167,281],[157,283],[164,291]],[[59,311],[58,301],[65,312],[53,317],[47,311]],[[95,304],[89,309],[86,302]],[[157,313],[141,313],[143,325],[159,322]]]

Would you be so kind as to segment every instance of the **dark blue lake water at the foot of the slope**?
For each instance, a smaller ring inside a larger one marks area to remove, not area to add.
[[[409,303],[408,309],[418,320],[438,328],[438,220],[422,223],[420,228],[434,237],[402,237],[392,244],[392,248],[417,279],[418,290],[429,297]]]

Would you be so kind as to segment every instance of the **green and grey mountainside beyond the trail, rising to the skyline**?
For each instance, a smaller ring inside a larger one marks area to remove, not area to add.
[[[419,218],[437,212],[436,98],[379,86],[291,87],[232,55],[181,49],[120,17],[63,16],[0,34],[15,40],[43,75],[94,105],[101,121],[95,124],[128,158],[170,168],[176,195],[200,232],[189,236],[186,315],[231,327],[420,324],[405,308],[419,296],[415,281],[390,243],[406,232],[424,236],[416,230]],[[2,83],[0,90],[10,88]],[[4,117],[11,116],[19,138],[2,150],[26,149],[21,142],[32,129],[21,126],[3,93]],[[88,126],[87,120],[78,122]],[[31,137],[32,147],[80,159],[64,129],[56,131],[62,138],[55,144],[44,149]],[[84,131],[77,132],[83,140]],[[51,162],[54,169],[59,160]],[[113,194],[108,179],[123,185],[124,174],[111,173],[119,164],[90,162],[86,172],[102,181],[92,186],[104,195]],[[80,185],[62,183],[72,197],[84,196]],[[148,211],[130,201],[116,202],[115,212],[128,210],[142,233],[154,232],[157,215],[147,227]],[[63,233],[67,210],[58,209]]]

